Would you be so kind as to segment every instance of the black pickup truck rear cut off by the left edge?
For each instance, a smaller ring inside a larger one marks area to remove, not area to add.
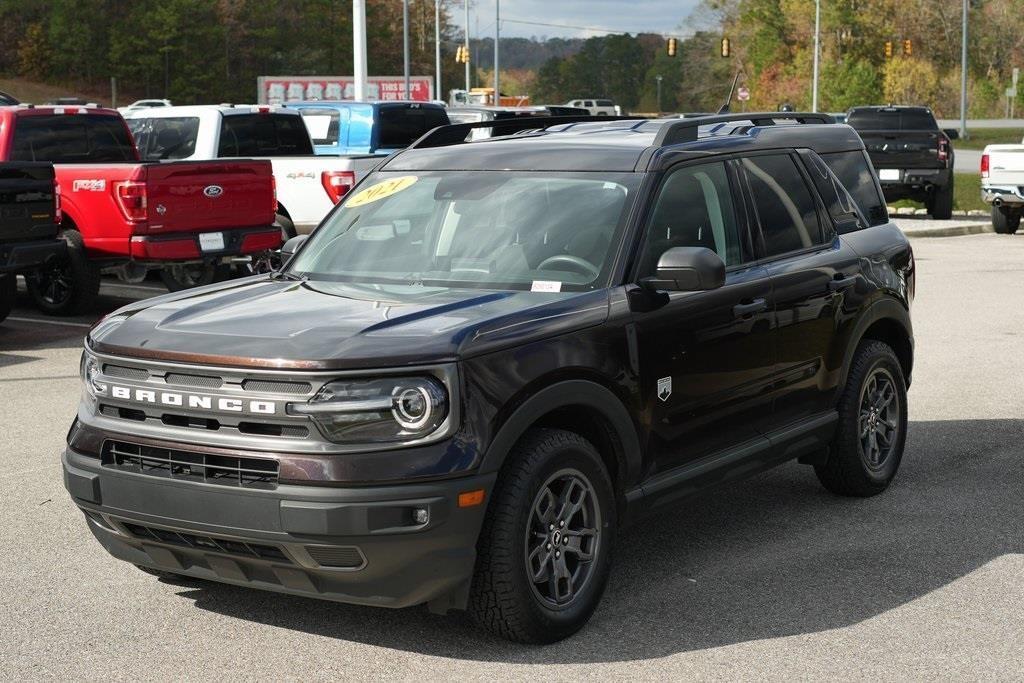
[[[0,163],[0,321],[14,305],[17,273],[65,257],[59,214],[52,164]]]

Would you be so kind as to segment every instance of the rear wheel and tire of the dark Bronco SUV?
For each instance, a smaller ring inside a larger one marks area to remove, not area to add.
[[[834,494],[877,496],[896,476],[905,442],[903,370],[888,344],[864,340],[854,353],[840,397],[839,428],[828,458],[815,465],[814,471]]]

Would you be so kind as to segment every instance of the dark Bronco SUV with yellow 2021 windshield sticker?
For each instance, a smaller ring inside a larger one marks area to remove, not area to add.
[[[62,463],[99,542],[550,642],[641,514],[794,459],[885,490],[914,263],[857,134],[582,119],[437,128],[280,271],[97,324]]]

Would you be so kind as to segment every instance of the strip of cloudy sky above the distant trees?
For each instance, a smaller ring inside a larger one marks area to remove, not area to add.
[[[495,3],[470,0],[470,35],[495,35]],[[606,33],[682,35],[699,0],[500,0],[502,36],[589,38]],[[452,7],[455,24],[464,24],[462,1]],[[479,31],[477,32],[477,22]],[[535,24],[525,24],[531,22]],[[538,26],[558,24],[563,26]],[[573,27],[573,28],[568,28]]]

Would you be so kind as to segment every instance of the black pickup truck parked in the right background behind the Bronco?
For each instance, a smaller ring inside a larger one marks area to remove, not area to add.
[[[846,121],[867,147],[889,202],[924,202],[933,218],[953,212],[955,130],[941,130],[926,106],[856,106]]]

